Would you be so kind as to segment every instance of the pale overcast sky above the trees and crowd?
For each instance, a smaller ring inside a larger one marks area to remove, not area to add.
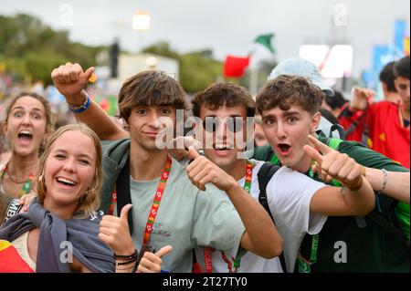
[[[151,16],[147,31],[132,29],[138,10]],[[118,37],[129,51],[167,41],[180,53],[207,48],[223,60],[247,56],[256,36],[274,33],[281,60],[298,56],[301,45],[349,44],[353,77],[371,68],[374,45],[392,43],[395,19],[409,30],[409,11],[409,0],[0,0],[2,15],[38,16],[88,45]]]

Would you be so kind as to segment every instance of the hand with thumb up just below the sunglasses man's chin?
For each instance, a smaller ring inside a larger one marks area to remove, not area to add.
[[[190,181],[198,189],[205,191],[205,184],[208,182],[212,182],[218,189],[226,192],[233,186],[233,183],[237,185],[233,177],[220,169],[214,162],[200,155],[193,146],[188,149],[188,152],[193,161],[190,162],[185,170]]]

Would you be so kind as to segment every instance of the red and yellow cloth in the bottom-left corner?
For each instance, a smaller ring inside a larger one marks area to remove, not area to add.
[[[34,273],[13,244],[0,240],[0,273]]]

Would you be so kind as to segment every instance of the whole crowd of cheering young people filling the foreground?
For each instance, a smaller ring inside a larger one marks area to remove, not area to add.
[[[56,129],[33,92],[5,108],[0,272],[408,273],[409,57],[383,72],[386,100],[346,101],[294,57],[256,98],[216,82],[190,106],[142,71],[119,123],[90,97],[93,68],[55,68],[78,122]]]

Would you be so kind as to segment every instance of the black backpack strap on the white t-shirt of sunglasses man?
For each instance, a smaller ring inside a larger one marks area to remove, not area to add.
[[[276,171],[279,170],[278,165],[274,165],[268,161],[264,162],[261,168],[258,171],[258,188],[259,188],[259,195],[258,195],[258,202],[264,207],[264,209],[269,213],[272,221],[274,222],[274,218],[272,217],[271,211],[269,210],[269,201],[267,199],[267,185],[269,181],[274,176]],[[275,223],[275,222],[274,222]],[[287,273],[287,265],[285,262],[284,253],[279,255],[279,262],[282,267],[282,271]]]

